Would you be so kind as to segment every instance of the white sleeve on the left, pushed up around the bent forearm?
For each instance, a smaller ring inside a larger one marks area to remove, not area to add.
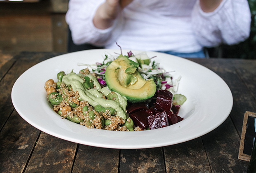
[[[66,22],[71,30],[75,44],[90,43],[96,46],[106,46],[116,40],[121,32],[122,15],[107,29],[98,29],[92,19],[98,7],[104,0],[70,0],[66,13]]]

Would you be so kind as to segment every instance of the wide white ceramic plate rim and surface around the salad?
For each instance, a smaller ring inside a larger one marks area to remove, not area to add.
[[[123,54],[129,50],[123,50]],[[84,67],[77,63],[102,62],[105,53],[120,50],[95,49],[78,51],[50,58],[24,72],[12,89],[12,102],[19,115],[29,124],[52,136],[74,143],[96,147],[139,149],[173,145],[202,136],[225,121],[230,114],[233,98],[228,85],[216,73],[185,58],[148,51],[156,56],[174,78],[181,76],[178,93],[187,97],[179,115],[184,120],[161,129],[149,131],[107,131],[88,129],[62,119],[48,105],[44,84],[48,79],[57,81],[57,73],[78,73]],[[140,51],[133,51],[137,54]]]

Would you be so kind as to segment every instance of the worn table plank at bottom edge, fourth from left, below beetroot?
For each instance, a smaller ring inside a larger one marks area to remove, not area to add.
[[[121,150],[120,173],[165,173],[163,147]]]

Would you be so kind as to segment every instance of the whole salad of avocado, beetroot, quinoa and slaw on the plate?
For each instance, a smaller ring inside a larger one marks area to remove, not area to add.
[[[58,81],[45,82],[52,109],[63,119],[88,128],[112,131],[159,129],[183,120],[186,97],[177,94],[181,77],[160,68],[145,52],[105,54],[79,73],[60,71]]]

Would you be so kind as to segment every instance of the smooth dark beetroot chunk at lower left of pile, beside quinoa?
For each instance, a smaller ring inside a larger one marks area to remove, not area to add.
[[[130,118],[133,120],[135,126],[139,126],[140,129],[144,130],[149,127],[147,117],[149,114],[145,110],[140,110],[130,114]]]

